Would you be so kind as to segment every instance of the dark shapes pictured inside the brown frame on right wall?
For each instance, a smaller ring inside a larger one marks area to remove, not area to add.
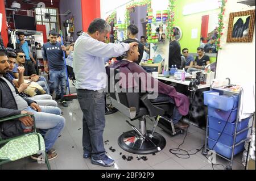
[[[245,23],[243,19],[239,18],[234,24],[232,37],[247,37],[249,33],[250,16],[246,18]]]

